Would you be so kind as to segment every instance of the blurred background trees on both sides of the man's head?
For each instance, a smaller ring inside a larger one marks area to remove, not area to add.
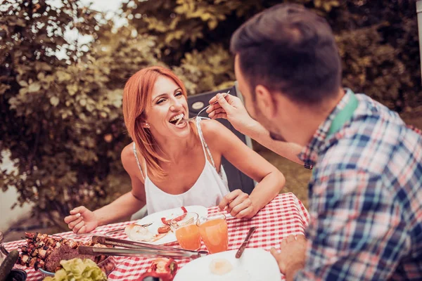
[[[179,74],[186,73],[188,82],[198,85],[193,86],[193,93],[198,93],[218,89],[221,79],[233,79],[228,53],[231,34],[250,16],[280,2],[131,0],[122,9],[139,33],[158,37],[162,60],[179,65]],[[345,86],[367,93],[398,112],[421,110],[414,1],[284,2],[303,4],[330,22],[343,58]]]

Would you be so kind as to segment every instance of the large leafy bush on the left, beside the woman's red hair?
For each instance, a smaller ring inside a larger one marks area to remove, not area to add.
[[[35,202],[35,214],[60,224],[71,208],[94,209],[129,188],[120,164],[129,141],[122,86],[136,70],[159,63],[155,42],[129,28],[116,37],[78,1],[60,8],[20,1],[1,13],[0,150],[18,161],[0,184],[15,186],[20,204]],[[89,52],[63,38],[72,28],[96,39]]]

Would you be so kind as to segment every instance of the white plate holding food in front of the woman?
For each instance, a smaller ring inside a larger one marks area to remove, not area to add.
[[[188,212],[193,212],[193,213],[198,214],[199,217],[208,215],[207,208],[205,208],[203,206],[186,206],[185,208]],[[154,214],[151,214],[151,215],[148,215],[144,218],[141,218],[136,223],[140,224],[140,225],[147,224],[147,223],[153,223],[151,226],[148,226],[147,229],[151,233],[157,234],[158,228],[160,228],[161,226],[164,226],[162,224],[161,218],[169,219],[169,218],[174,218],[176,216],[180,216],[181,214],[183,214],[183,210],[181,208],[174,208],[174,209],[169,209],[169,210],[164,210],[164,211],[158,211]],[[177,241],[176,236],[174,235],[174,233],[172,231],[169,231],[167,233],[167,235],[165,235],[164,237],[162,237],[161,239],[159,239],[157,241],[143,242],[143,243],[160,245],[160,244],[166,244],[166,243],[175,242],[175,241]]]

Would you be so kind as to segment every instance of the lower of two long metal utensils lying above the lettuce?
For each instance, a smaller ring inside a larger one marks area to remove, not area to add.
[[[156,249],[124,249],[107,247],[79,246],[79,254],[89,254],[93,256],[172,256],[196,259],[208,254],[207,251],[164,251]]]

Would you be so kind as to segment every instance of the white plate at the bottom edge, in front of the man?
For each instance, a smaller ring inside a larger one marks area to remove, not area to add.
[[[273,256],[264,249],[247,248],[240,259],[236,259],[236,250],[222,251],[195,259],[181,268],[173,281],[280,281],[279,265]],[[215,259],[226,259],[233,269],[224,275],[211,273],[210,263]]]

